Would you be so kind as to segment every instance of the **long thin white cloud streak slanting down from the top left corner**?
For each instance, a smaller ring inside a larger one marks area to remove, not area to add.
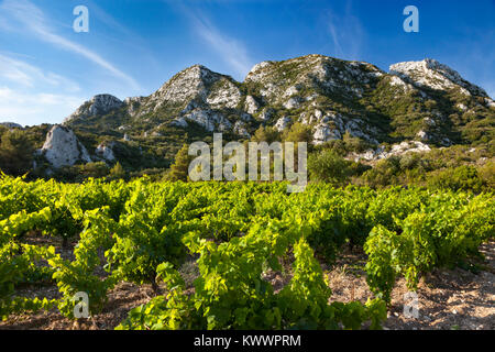
[[[48,24],[50,21],[45,13],[32,2],[28,0],[4,0],[0,4],[0,13],[2,14],[0,22],[4,23],[2,29],[18,32],[28,30],[40,40],[80,55],[105,68],[114,77],[123,79],[132,88],[139,89],[138,82],[131,76],[118,69],[100,55],[57,34]],[[18,25],[13,24],[13,21],[18,22]]]

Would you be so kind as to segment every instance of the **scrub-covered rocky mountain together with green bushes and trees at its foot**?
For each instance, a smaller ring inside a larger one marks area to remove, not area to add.
[[[76,164],[53,167],[46,152],[29,155],[43,147],[52,127],[11,132],[0,127],[0,169],[68,182],[110,174],[163,178],[174,174],[170,167],[185,144],[211,143],[212,133],[221,132],[224,143],[307,142],[312,165],[320,161],[322,168],[323,155],[331,155],[326,151],[332,151],[358,163],[344,184],[383,187],[436,179],[438,187],[459,188],[447,178],[466,166],[476,170],[463,176],[471,175],[472,189],[493,185],[486,169],[494,162],[495,102],[431,59],[396,64],[385,73],[367,63],[307,55],[257,64],[243,82],[195,65],[148,97],[96,96],[64,124],[87,157],[81,152]],[[422,143],[417,156],[408,148],[396,151],[410,141]],[[66,146],[51,147],[64,155]],[[110,173],[117,164],[123,170]],[[310,173],[315,180],[326,179],[322,170]]]

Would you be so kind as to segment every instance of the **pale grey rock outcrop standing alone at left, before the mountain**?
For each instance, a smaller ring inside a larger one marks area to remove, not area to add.
[[[54,125],[47,133],[40,154],[55,168],[72,166],[78,162],[91,163],[88,151],[74,132],[62,125]]]

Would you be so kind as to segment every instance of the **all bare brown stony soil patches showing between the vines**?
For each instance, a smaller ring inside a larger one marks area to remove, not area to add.
[[[34,240],[37,244],[40,241]],[[74,246],[74,243],[72,244]],[[62,251],[65,257],[72,256],[70,246]],[[476,274],[461,268],[437,270],[424,277],[418,287],[418,318],[407,318],[404,305],[408,289],[404,279],[399,279],[392,294],[392,305],[388,310],[384,329],[388,330],[494,330],[495,329],[495,241],[484,244],[481,249],[486,260],[479,263],[481,271]],[[322,265],[332,288],[332,300],[365,302],[372,297],[367,288],[362,267],[365,257],[362,253],[345,251],[339,257],[337,265],[328,268]],[[191,286],[197,268],[194,262],[186,263],[182,273],[186,283]],[[275,290],[279,290],[290,279],[289,275],[267,273],[265,279],[272,282]],[[189,289],[189,293],[194,288]],[[25,287],[20,295],[28,297],[59,297],[56,286]],[[61,316],[56,309],[37,315],[12,316],[0,322],[0,330],[107,330],[117,327],[130,309],[147,302],[153,297],[150,285],[136,286],[121,283],[112,289],[108,304],[102,312],[74,322]]]

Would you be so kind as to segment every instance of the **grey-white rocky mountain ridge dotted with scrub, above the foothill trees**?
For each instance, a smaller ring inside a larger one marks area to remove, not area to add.
[[[433,59],[395,64],[386,73],[369,63],[308,55],[260,63],[243,82],[195,65],[148,97],[94,97],[46,143],[56,144],[55,132],[70,140],[70,129],[80,142],[67,142],[69,154],[79,143],[91,151],[79,160],[172,161],[183,143],[208,141],[212,132],[246,140],[260,125],[282,132],[296,122],[311,129],[316,145],[346,134],[375,145],[378,154],[383,143],[397,151],[403,142],[411,148],[471,145],[494,140],[495,102]]]

